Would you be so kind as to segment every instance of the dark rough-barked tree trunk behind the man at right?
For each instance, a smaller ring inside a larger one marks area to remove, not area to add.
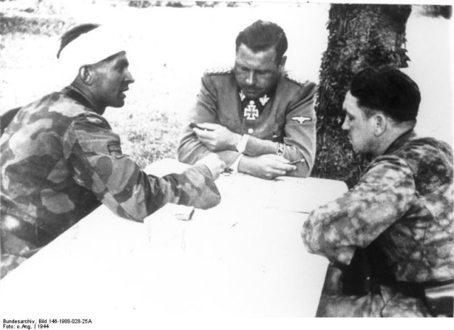
[[[407,67],[405,26],[409,5],[332,4],[328,48],[323,53],[317,115],[317,155],[313,177],[358,182],[367,165],[341,129],[342,104],[353,75],[365,67]]]

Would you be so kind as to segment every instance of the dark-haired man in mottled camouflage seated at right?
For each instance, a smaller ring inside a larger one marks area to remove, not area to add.
[[[437,306],[426,293],[454,279],[453,152],[416,136],[419,101],[416,84],[389,68],[362,70],[345,96],[343,129],[375,159],[358,185],[311,212],[302,237],[341,265],[373,246],[380,277],[368,295],[322,295],[321,317],[452,316],[452,296]]]

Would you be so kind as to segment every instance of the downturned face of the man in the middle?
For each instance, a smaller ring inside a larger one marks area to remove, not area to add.
[[[234,70],[236,82],[245,96],[257,99],[269,92],[277,82],[284,58],[279,62],[275,60],[275,48],[254,53],[241,44],[236,52]]]

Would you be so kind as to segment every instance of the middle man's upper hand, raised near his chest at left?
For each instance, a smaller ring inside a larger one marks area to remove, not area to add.
[[[233,133],[228,128],[217,123],[199,123],[199,127],[208,128],[210,131],[193,128],[197,138],[212,152],[235,150],[236,144],[241,140],[240,134]]]

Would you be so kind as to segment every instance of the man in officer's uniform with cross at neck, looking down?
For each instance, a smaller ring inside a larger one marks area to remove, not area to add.
[[[233,70],[206,72],[201,79],[179,142],[180,161],[194,164],[216,153],[231,170],[256,177],[309,175],[316,86],[284,73],[286,50],[287,37],[275,23],[256,21],[238,34]]]

